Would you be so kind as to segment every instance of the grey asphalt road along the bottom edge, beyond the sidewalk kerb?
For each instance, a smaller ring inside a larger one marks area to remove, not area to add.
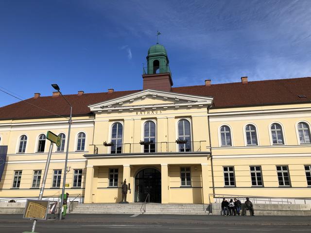
[[[31,223],[0,223],[0,232],[31,232]],[[311,232],[311,226],[230,226],[198,224],[51,224],[38,223],[38,233],[239,233],[239,232],[272,232],[295,233]]]

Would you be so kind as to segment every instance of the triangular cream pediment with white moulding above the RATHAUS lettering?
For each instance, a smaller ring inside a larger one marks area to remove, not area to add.
[[[89,105],[92,112],[112,110],[134,110],[139,108],[176,107],[182,105],[210,105],[213,98],[187,94],[143,90],[120,98]]]

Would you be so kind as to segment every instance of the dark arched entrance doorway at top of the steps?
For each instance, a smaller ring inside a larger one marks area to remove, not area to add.
[[[142,169],[135,177],[135,202],[144,202],[148,194],[150,202],[161,203],[161,172],[155,168]]]

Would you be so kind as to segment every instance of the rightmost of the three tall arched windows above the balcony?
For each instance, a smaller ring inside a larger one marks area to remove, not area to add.
[[[178,121],[178,140],[185,143],[178,143],[179,151],[191,151],[190,122],[182,119]]]

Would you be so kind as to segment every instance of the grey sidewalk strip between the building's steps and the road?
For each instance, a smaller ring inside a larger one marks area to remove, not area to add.
[[[52,218],[53,215],[48,215]],[[22,215],[0,215],[0,223],[29,223]],[[42,222],[41,220],[39,220]],[[46,220],[49,224],[72,223],[132,223],[132,224],[206,224],[206,225],[269,225],[311,226],[311,216],[211,216],[211,215],[110,215],[67,214],[61,222]]]

